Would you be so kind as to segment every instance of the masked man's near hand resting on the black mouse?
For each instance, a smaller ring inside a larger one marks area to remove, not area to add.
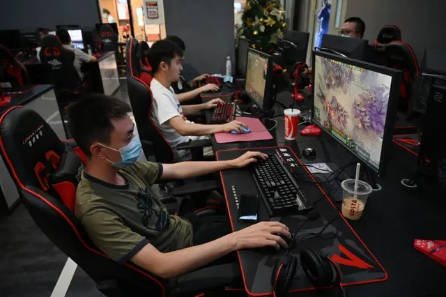
[[[274,247],[277,250],[281,247],[288,248],[284,238],[278,234],[285,238],[291,238],[289,228],[281,222],[259,222],[227,236],[233,240],[236,250],[266,246]]]

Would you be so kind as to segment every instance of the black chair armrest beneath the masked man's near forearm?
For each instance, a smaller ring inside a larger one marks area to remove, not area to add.
[[[238,263],[222,264],[201,268],[178,277],[170,294],[201,292],[208,289],[243,284],[242,273]]]

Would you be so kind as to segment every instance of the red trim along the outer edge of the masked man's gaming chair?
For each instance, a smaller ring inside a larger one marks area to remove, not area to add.
[[[15,106],[15,107],[11,107],[10,109],[8,109],[4,114],[1,115],[0,117],[0,127],[1,127],[1,123],[3,123],[3,119],[5,118],[5,116],[7,114],[9,114],[13,109],[16,108],[20,108],[22,106]],[[19,185],[19,187],[26,191],[29,192],[31,195],[34,195],[35,197],[37,197],[38,199],[41,199],[42,201],[44,201],[49,207],[53,208],[54,211],[56,211],[56,213],[59,213],[59,215],[61,215],[62,218],[64,218],[66,220],[66,222],[70,225],[70,227],[72,228],[72,230],[75,232],[77,238],[79,239],[79,241],[82,243],[82,245],[84,245],[84,248],[86,248],[87,250],[90,250],[91,252],[94,252],[95,254],[98,254],[102,257],[108,258],[110,259],[106,254],[104,254],[103,252],[100,252],[98,250],[95,250],[93,248],[91,248],[89,245],[87,245],[85,243],[85,241],[82,239],[82,237],[79,234],[79,231],[77,231],[75,225],[71,222],[70,219],[68,219],[68,217],[66,216],[65,213],[63,213],[63,211],[61,211],[59,208],[57,208],[56,206],[54,206],[54,204],[52,204],[51,202],[49,202],[47,199],[45,199],[45,197],[42,197],[41,195],[39,195],[36,192],[33,192],[32,190],[29,190],[29,188],[26,188],[24,186],[24,184],[22,183],[22,181],[20,181],[20,178],[17,176],[17,172],[15,172],[15,168],[13,167],[13,163],[11,162],[11,160],[9,159],[8,154],[6,153],[6,149],[5,146],[3,145],[3,139],[1,139],[1,135],[0,135],[0,148],[1,151],[3,153],[3,156],[6,160],[6,162],[8,162],[8,165],[11,169],[11,172],[13,174],[13,177],[15,178],[15,181],[17,181],[17,185]],[[141,273],[142,275],[148,277],[149,279],[153,280],[153,282],[155,282],[156,284],[158,284],[160,286],[160,288],[162,289],[162,297],[165,296],[166,294],[166,289],[164,289],[164,286],[161,284],[161,282],[159,280],[157,280],[155,277],[149,275],[148,273],[144,272],[141,270],[141,268],[138,268],[136,266],[132,266],[128,263],[124,264],[125,266],[128,266],[130,269],[133,269],[134,271],[137,271],[138,273]]]

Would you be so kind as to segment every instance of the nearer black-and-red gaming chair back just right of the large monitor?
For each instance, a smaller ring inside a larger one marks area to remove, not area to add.
[[[406,111],[412,98],[413,84],[419,75],[417,57],[410,45],[398,40],[384,45],[384,53],[385,66],[403,72],[398,106],[401,111]]]

